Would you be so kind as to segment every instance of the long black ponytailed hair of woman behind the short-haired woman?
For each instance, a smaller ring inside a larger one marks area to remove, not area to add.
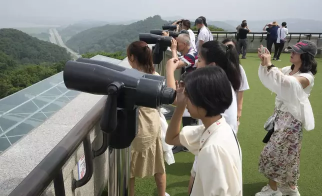
[[[239,68],[239,55],[235,46],[225,45],[219,41],[207,41],[201,45],[199,54],[207,64],[214,62],[227,74],[234,91],[238,91],[241,85],[241,73]]]

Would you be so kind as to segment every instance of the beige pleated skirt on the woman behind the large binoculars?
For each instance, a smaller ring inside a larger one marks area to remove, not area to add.
[[[131,143],[131,177],[165,173],[160,131],[157,109],[139,107],[138,132]]]

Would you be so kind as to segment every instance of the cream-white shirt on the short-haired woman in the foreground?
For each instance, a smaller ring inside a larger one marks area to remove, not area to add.
[[[198,154],[192,196],[242,196],[240,146],[224,117],[206,130],[204,125],[184,126],[179,138]]]

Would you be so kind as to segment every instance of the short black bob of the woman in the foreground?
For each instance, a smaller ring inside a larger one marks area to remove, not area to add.
[[[232,102],[230,82],[219,66],[208,66],[184,77],[185,93],[191,103],[206,110],[207,117],[223,113]]]

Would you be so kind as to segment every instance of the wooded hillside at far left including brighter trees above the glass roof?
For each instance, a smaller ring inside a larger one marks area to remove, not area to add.
[[[0,99],[62,71],[66,49],[20,30],[0,29]]]

